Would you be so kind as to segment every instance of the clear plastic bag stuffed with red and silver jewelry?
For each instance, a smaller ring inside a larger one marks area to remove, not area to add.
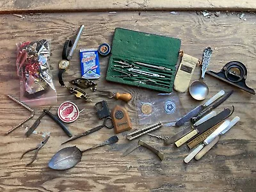
[[[20,77],[20,100],[29,106],[57,102],[49,65],[51,40],[17,44],[17,74]]]

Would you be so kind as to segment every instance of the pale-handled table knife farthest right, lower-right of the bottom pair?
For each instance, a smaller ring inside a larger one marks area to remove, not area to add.
[[[206,145],[202,150],[200,150],[200,152],[195,156],[195,159],[201,159],[216,143],[218,143],[221,136],[225,134],[229,129],[231,129],[234,125],[236,125],[237,122],[239,122],[239,120],[239,116],[233,118],[230,122],[230,125],[224,131],[222,131],[214,140],[212,140],[211,143],[209,143],[209,145]]]

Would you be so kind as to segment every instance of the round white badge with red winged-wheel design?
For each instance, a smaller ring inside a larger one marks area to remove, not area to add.
[[[79,116],[79,109],[73,102],[66,101],[60,105],[57,113],[61,121],[71,123],[77,120]]]

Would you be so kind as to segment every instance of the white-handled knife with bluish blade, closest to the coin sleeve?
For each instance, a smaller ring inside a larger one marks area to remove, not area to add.
[[[203,111],[203,109],[207,108],[207,106],[211,105],[212,102],[214,102],[215,100],[219,99],[222,95],[224,95],[225,92],[223,90],[221,90],[220,92],[218,92],[216,95],[214,95],[211,99],[209,99],[207,102],[205,102],[205,104],[202,104],[200,106],[197,106],[195,109],[192,109],[191,111],[189,111],[189,113],[187,113],[185,116],[183,116],[182,118],[180,118],[175,126],[180,127],[181,125],[183,125],[184,123],[188,122],[188,120],[190,118],[192,118],[193,116],[198,115],[198,113],[200,113],[201,111]]]

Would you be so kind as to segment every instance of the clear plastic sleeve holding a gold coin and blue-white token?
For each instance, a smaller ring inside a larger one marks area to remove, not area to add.
[[[140,125],[163,122],[166,126],[173,126],[184,115],[184,108],[175,92],[138,97],[137,111]]]

